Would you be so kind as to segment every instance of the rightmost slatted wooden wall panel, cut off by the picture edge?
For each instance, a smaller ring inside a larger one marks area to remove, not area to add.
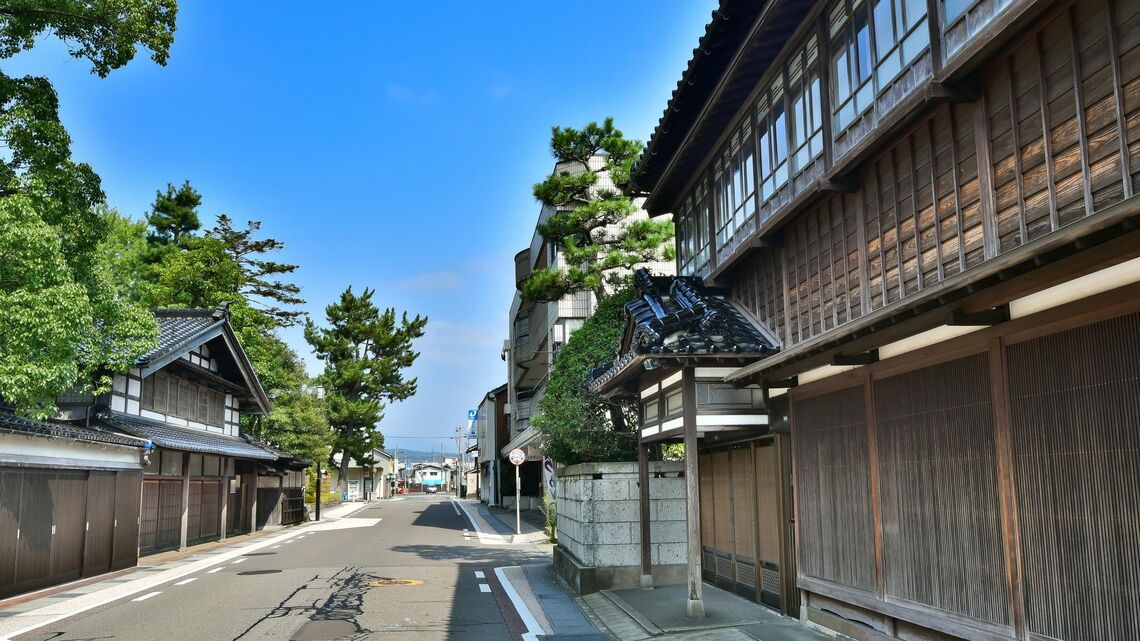
[[[1007,356],[1028,630],[1140,638],[1140,314]]]

